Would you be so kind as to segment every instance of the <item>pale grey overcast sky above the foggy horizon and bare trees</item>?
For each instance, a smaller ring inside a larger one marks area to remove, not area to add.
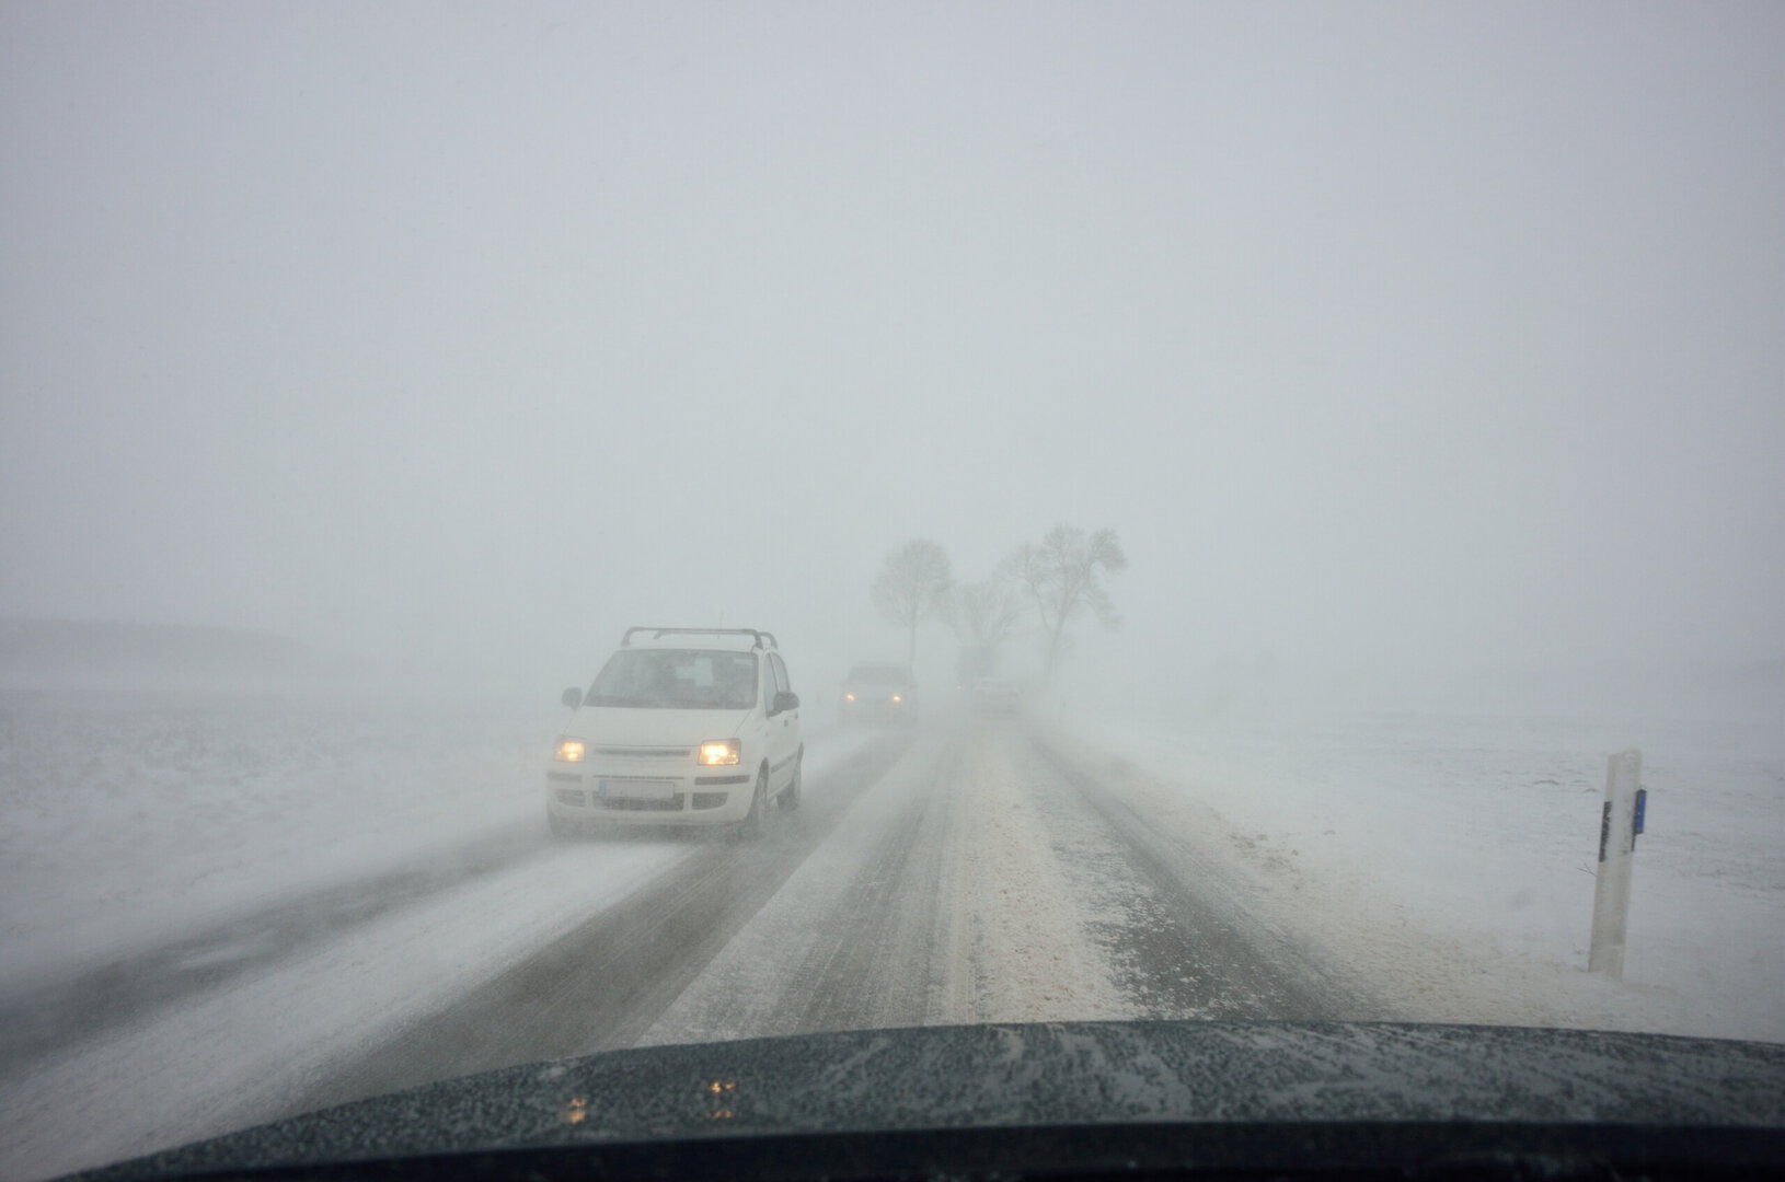
[[[1069,521],[1137,661],[1780,658],[1781,61],[1771,0],[14,0],[0,613],[821,665],[905,538]]]

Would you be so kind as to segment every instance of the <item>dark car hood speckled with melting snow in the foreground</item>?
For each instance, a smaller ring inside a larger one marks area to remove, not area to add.
[[[1108,1022],[621,1050],[428,1084],[96,1171],[580,1141],[1307,1121],[1785,1125],[1785,1047],[1517,1027]]]

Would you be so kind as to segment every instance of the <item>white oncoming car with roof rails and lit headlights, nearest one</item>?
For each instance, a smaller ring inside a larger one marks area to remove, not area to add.
[[[734,825],[800,806],[800,697],[775,636],[753,628],[628,628],[546,772],[552,833]]]

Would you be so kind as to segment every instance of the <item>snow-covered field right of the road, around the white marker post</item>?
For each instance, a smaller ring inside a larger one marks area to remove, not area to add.
[[[1432,1022],[1785,1041],[1785,720],[1101,713],[1125,795],[1203,831],[1260,906]],[[1590,975],[1606,758],[1649,788],[1621,982]]]

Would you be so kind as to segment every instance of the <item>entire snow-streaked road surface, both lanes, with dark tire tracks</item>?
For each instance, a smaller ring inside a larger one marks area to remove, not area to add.
[[[759,843],[536,845],[336,918],[237,932],[216,975],[164,972],[73,1045],[9,1054],[4,1171],[644,1043],[1373,1009],[1185,834],[1005,720],[839,742]]]

